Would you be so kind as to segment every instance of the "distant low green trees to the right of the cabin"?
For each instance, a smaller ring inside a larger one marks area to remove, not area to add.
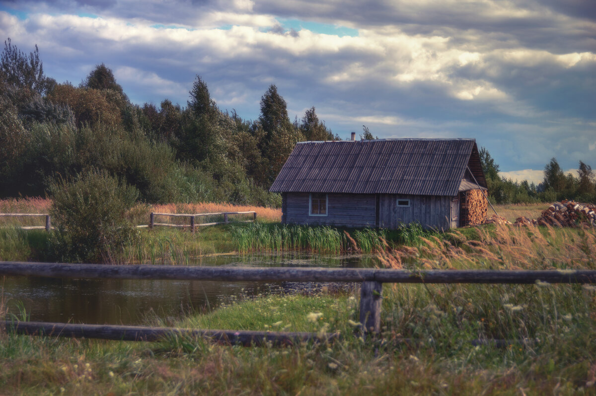
[[[489,199],[496,204],[522,204],[532,202],[554,202],[561,199],[575,199],[580,202],[596,202],[596,179],[592,167],[579,161],[578,175],[565,174],[557,158],[544,167],[541,183],[513,181],[499,176],[499,164],[485,147],[480,148],[480,161],[488,183]]]

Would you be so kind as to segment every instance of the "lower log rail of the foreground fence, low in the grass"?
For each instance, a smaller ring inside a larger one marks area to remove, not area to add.
[[[12,322],[5,320],[7,331],[17,334],[67,338],[98,338],[120,341],[159,341],[168,337],[207,338],[228,345],[296,345],[308,341],[333,341],[339,333],[265,332],[251,330],[192,330],[147,326],[75,325],[72,323]]]

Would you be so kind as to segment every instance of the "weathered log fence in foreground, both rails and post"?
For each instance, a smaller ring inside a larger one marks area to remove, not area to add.
[[[380,332],[383,283],[596,283],[596,270],[390,270],[304,267],[179,267],[109,266],[101,264],[21,263],[0,261],[0,275],[79,279],[178,279],[263,282],[361,282],[359,320],[365,332]],[[290,342],[315,338],[312,333],[183,330],[139,326],[69,325],[66,323],[6,323],[17,332],[87,338],[153,340],[168,333],[204,335],[243,345],[262,341]],[[143,330],[144,329],[144,330]],[[331,338],[337,335],[328,335]]]

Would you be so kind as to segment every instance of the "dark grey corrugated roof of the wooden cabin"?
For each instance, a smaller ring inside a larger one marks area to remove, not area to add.
[[[474,139],[301,142],[269,191],[453,197],[477,153]]]

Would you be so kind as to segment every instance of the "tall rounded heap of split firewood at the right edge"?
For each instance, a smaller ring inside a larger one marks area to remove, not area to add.
[[[585,224],[596,227],[596,205],[563,199],[550,205],[536,222],[541,226],[576,227]]]

